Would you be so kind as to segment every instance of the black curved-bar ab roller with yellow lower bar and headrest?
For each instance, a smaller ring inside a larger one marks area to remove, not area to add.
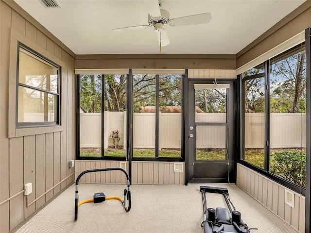
[[[112,171],[112,170],[120,170],[122,171],[125,175],[126,175],[126,179],[127,179],[127,189],[124,189],[124,199],[120,198],[120,197],[116,197],[116,196],[112,196],[112,197],[106,197],[104,195],[104,193],[95,193],[93,196],[93,199],[88,199],[88,200],[83,200],[81,202],[79,202],[79,195],[78,195],[78,184],[80,181],[80,178],[89,172],[96,172],[96,171]],[[109,200],[109,199],[117,199],[120,200],[124,206],[124,209],[126,212],[129,212],[131,209],[131,191],[130,191],[130,177],[127,174],[127,172],[121,168],[121,167],[109,167],[109,168],[99,168],[99,169],[91,169],[91,170],[86,170],[80,173],[80,175],[78,176],[77,180],[76,180],[76,195],[75,195],[75,207],[74,207],[74,220],[76,221],[78,219],[78,207],[84,203],[87,202],[94,202],[94,203],[100,203],[103,202],[104,200]],[[128,205],[126,206],[126,200],[128,200]]]

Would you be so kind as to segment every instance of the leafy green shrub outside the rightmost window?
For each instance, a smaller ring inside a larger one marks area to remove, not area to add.
[[[306,187],[306,151],[275,152],[272,159],[272,173]]]

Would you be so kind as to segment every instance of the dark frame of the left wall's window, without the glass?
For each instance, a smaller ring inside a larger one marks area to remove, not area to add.
[[[31,53],[36,59],[40,62],[47,62],[53,67],[57,68],[57,93],[51,92],[48,90],[40,89],[35,86],[30,86],[27,84],[23,84],[19,82],[19,54],[20,49],[26,50],[27,52]],[[34,127],[47,127],[47,126],[57,126],[60,125],[60,99],[61,99],[61,93],[60,93],[60,87],[61,87],[61,66],[53,63],[50,59],[42,56],[41,54],[37,53],[35,50],[32,50],[28,46],[18,42],[17,43],[17,75],[16,75],[16,128],[34,128]],[[41,91],[43,93],[51,94],[53,96],[56,96],[56,121],[34,121],[34,122],[18,122],[18,89],[19,87],[27,87],[31,88],[33,90]]]

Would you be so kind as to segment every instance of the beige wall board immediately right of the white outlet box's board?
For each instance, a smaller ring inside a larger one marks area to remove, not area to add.
[[[35,198],[45,193],[45,134],[35,135]],[[45,203],[42,197],[35,202],[36,210]]]

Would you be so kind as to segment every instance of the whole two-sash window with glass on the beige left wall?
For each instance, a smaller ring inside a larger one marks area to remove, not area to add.
[[[19,44],[17,127],[59,125],[60,66]]]

